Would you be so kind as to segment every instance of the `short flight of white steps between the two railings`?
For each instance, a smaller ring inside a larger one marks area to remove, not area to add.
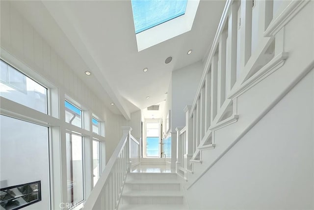
[[[176,173],[128,173],[119,210],[188,210]]]

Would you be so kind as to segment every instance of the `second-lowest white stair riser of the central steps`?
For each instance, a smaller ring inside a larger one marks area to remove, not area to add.
[[[136,191],[136,190],[140,190],[140,191],[156,191],[156,190],[165,190],[165,191],[180,191],[180,184],[179,183],[175,183],[175,184],[129,184],[127,183],[124,186],[125,191]]]

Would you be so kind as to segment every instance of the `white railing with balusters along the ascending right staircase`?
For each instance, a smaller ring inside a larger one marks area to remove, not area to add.
[[[177,172],[185,179],[202,163],[202,150],[215,148],[215,130],[238,120],[237,97],[288,59],[284,26],[309,1],[281,2],[283,11],[274,11],[273,0],[227,0],[193,104],[184,109],[185,127],[177,129]]]

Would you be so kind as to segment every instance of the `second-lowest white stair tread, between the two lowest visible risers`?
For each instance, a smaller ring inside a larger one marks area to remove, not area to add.
[[[130,190],[122,193],[122,196],[136,197],[136,196],[144,196],[144,197],[152,197],[152,196],[174,196],[174,197],[183,197],[182,191],[172,191],[172,190]]]

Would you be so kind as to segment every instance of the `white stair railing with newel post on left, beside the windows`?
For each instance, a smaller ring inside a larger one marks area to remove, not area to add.
[[[122,127],[122,138],[103,174],[84,204],[86,210],[116,210],[131,164],[139,162],[139,143],[131,136],[131,127]],[[130,164],[131,163],[131,164]]]

